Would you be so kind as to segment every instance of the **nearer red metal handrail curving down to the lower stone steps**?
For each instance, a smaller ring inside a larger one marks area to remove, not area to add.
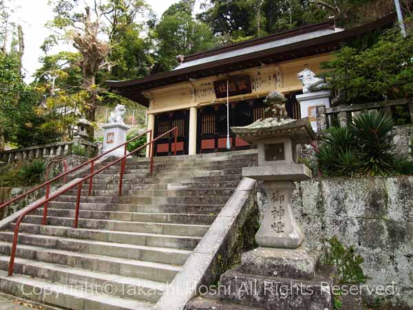
[[[76,182],[74,182],[72,185],[66,187],[65,189],[61,189],[59,192],[56,192],[55,194],[52,194],[49,198],[42,200],[39,203],[34,204],[32,207],[30,207],[30,209],[27,209],[23,212],[23,214],[21,214],[21,216],[19,216],[19,218],[16,221],[16,224],[14,226],[14,234],[13,234],[13,243],[12,243],[12,250],[10,252],[10,262],[9,262],[9,266],[8,266],[8,276],[12,276],[13,271],[14,271],[14,258],[16,257],[16,250],[17,250],[17,240],[19,240],[19,229],[20,229],[20,225],[21,225],[21,221],[23,220],[23,218],[29,214],[31,211],[33,211],[34,209],[37,209],[39,207],[41,207],[41,205],[44,205],[45,203],[49,203],[51,200],[53,200],[56,197],[61,196],[62,194],[65,194],[65,192],[68,192],[70,189],[74,188],[74,187],[78,187],[77,189],[77,197],[76,197],[76,210],[75,210],[75,215],[74,215],[74,228],[77,228],[78,226],[78,216],[79,216],[79,210],[80,210],[80,204],[81,204],[81,194],[82,194],[82,185],[85,181],[87,181],[90,178],[93,178],[94,176],[96,176],[96,174],[100,174],[100,172],[103,172],[103,170],[112,167],[113,165],[115,165],[116,163],[122,162],[122,161],[126,161],[126,158],[128,156],[133,155],[134,153],[140,151],[140,149],[147,147],[147,145],[153,145],[156,141],[158,141],[160,138],[162,138],[162,136],[165,136],[171,132],[175,132],[175,149],[174,149],[174,154],[176,155],[176,139],[178,136],[178,127],[174,127],[173,129],[169,130],[168,132],[165,132],[165,134],[161,134],[160,136],[158,136],[157,138],[152,139],[151,141],[145,143],[145,145],[142,145],[140,147],[138,147],[137,149],[134,149],[134,151],[130,152],[129,154],[124,155],[123,157],[120,157],[118,159],[116,159],[116,161],[112,161],[112,163],[109,163],[108,165],[106,165],[105,167],[102,167],[100,169],[98,169],[95,172],[90,173],[89,175],[85,176],[84,178],[81,178],[81,180],[78,180]],[[153,156],[153,147],[152,148],[152,152],[151,152],[151,156]],[[112,152],[112,151],[110,151]],[[151,163],[153,165],[153,158],[151,158]],[[126,163],[125,163],[126,164]],[[121,166],[121,170],[125,170],[125,165]],[[153,168],[151,168],[153,169]],[[124,171],[125,172],[125,171]],[[152,173],[152,171],[151,171]],[[123,178],[123,173],[121,171],[120,173],[120,178]],[[121,183],[120,183],[121,185]],[[122,188],[120,187],[120,194],[122,194]]]

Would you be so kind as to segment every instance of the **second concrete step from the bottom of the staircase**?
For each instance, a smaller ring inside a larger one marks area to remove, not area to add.
[[[0,256],[1,270],[6,271],[8,269],[9,260],[10,256]],[[123,296],[125,291],[134,291],[133,294],[129,294],[129,298],[146,302],[157,302],[166,287],[165,283],[162,282],[118,276],[48,262],[36,262],[24,258],[14,260],[14,272],[83,289],[96,287],[98,291],[100,290],[100,293],[107,293],[112,296]],[[110,285],[107,285],[107,283],[110,283]]]

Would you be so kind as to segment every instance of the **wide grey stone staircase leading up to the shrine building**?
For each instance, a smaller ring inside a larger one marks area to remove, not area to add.
[[[100,164],[100,167],[102,167]],[[14,224],[0,231],[0,291],[66,309],[153,309],[235,187],[254,151],[127,160],[84,185],[78,229],[76,189],[26,216],[14,276],[7,276]]]

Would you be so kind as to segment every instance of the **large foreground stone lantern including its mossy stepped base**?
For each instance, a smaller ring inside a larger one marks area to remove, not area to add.
[[[318,256],[302,245],[304,233],[291,206],[294,181],[311,178],[310,169],[297,164],[296,145],[312,142],[315,133],[308,118],[289,118],[285,103],[283,94],[271,92],[265,118],[231,128],[258,146],[258,166],[244,167],[242,174],[262,181],[266,204],[255,236],[260,247],[242,254],[241,266],[221,276],[220,298],[264,309],[330,310],[332,269],[317,269]]]

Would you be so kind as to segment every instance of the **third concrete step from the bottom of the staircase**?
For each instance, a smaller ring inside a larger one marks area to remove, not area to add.
[[[0,242],[0,254],[9,256],[10,249],[10,243]],[[49,262],[157,282],[171,282],[182,269],[180,266],[160,264],[158,262],[145,262],[142,260],[129,260],[104,255],[76,253],[59,249],[34,247],[32,245],[19,245],[16,256],[37,262]]]

